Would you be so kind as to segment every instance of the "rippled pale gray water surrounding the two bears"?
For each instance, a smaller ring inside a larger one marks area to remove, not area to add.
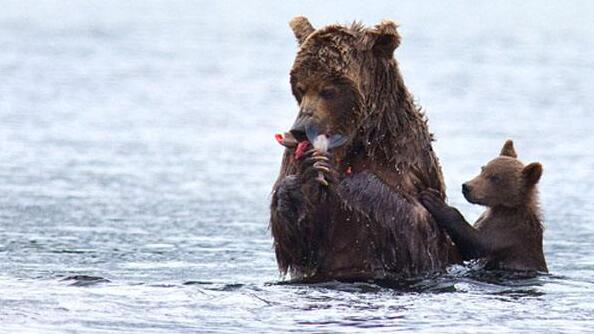
[[[2,1],[0,332],[594,331],[594,4]],[[513,138],[551,275],[279,284],[287,21],[401,23],[450,201]]]

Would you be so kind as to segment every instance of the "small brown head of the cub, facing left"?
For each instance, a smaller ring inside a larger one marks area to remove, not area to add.
[[[529,205],[534,199],[542,165],[524,165],[517,159],[513,142],[507,140],[499,157],[482,167],[481,173],[462,185],[462,193],[470,202],[488,207],[514,208]]]

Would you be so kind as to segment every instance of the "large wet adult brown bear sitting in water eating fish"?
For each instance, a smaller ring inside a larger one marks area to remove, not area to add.
[[[300,109],[292,140],[281,140],[287,149],[272,194],[280,271],[354,281],[444,270],[457,251],[417,200],[427,188],[443,195],[443,177],[427,121],[393,58],[396,25],[315,30],[296,17],[290,26],[300,45],[290,75]],[[297,159],[308,129],[346,143]]]

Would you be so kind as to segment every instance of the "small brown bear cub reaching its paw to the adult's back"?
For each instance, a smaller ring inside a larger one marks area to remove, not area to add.
[[[542,165],[524,165],[508,140],[499,157],[462,185],[466,200],[487,207],[474,226],[437,191],[422,192],[420,200],[464,260],[480,258],[488,270],[547,272],[536,189],[541,175]]]

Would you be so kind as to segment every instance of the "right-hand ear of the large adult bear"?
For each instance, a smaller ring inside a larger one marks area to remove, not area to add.
[[[363,37],[365,50],[372,50],[379,57],[392,58],[394,50],[400,45],[398,25],[390,20],[383,20],[374,28],[368,29]]]

